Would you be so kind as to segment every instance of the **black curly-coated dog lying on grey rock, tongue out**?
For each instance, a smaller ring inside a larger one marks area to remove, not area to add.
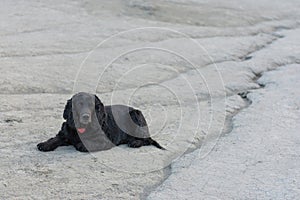
[[[115,145],[137,148],[161,147],[149,135],[141,111],[124,105],[103,106],[96,95],[75,94],[68,100],[61,130],[54,138],[37,145],[40,151],[53,151],[59,146],[73,145],[78,151],[100,151]]]

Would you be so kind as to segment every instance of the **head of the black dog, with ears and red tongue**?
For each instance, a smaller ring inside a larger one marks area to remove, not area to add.
[[[63,114],[67,123],[76,127],[79,133],[84,133],[92,123],[102,123],[105,116],[100,99],[96,95],[85,92],[77,93],[69,99]]]

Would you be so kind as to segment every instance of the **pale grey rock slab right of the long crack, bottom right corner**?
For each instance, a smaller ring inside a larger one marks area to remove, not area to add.
[[[148,199],[297,199],[300,194],[300,66],[267,72],[252,104],[213,151],[177,160]]]

